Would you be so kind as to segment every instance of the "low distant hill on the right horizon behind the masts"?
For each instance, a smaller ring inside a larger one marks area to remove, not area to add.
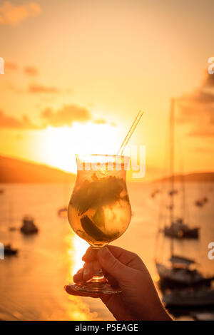
[[[214,182],[214,172],[195,172],[189,173],[187,175],[175,175],[175,182],[180,182],[182,180],[185,182]],[[169,182],[170,177],[164,177],[159,180],[154,180],[154,182]]]

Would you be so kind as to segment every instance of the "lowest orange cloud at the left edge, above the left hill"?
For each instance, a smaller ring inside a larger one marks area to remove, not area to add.
[[[31,123],[28,116],[23,115],[19,120],[14,116],[7,116],[0,110],[0,128],[12,128],[12,129],[38,129],[36,125]]]

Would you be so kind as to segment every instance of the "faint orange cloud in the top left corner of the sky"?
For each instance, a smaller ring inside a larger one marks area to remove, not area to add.
[[[4,1],[4,4],[0,6],[0,24],[15,25],[40,13],[41,7],[36,2],[16,6],[11,4],[11,1]]]

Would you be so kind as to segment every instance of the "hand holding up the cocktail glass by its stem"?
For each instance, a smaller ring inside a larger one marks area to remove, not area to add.
[[[98,252],[91,247],[83,256],[86,262],[74,276],[74,282],[88,281],[95,269],[102,267],[111,284],[121,288],[120,294],[87,294],[71,286],[68,294],[101,298],[117,320],[171,320],[154,287],[145,264],[137,254],[119,247],[108,246]]]

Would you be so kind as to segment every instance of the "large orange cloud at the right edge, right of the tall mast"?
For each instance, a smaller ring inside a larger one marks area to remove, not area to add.
[[[199,88],[177,103],[178,122],[192,125],[188,135],[214,136],[214,75],[206,73]]]

